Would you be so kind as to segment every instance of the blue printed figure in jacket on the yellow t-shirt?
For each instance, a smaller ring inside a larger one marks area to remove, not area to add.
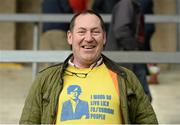
[[[67,88],[70,99],[63,103],[61,121],[89,118],[88,102],[79,99],[81,92],[81,87],[78,85],[71,85]]]

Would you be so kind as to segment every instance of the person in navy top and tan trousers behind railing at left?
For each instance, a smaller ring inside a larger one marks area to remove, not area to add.
[[[72,14],[73,10],[68,0],[43,0],[43,14]],[[69,50],[66,42],[66,32],[69,23],[47,22],[42,24],[42,34],[40,37],[41,50]]]

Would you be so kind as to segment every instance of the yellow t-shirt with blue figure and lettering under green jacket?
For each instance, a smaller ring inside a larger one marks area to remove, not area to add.
[[[93,69],[66,69],[56,124],[75,123],[122,123],[117,87],[104,64]]]

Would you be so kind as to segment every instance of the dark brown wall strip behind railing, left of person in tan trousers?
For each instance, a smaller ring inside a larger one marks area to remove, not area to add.
[[[17,0],[17,13],[41,13],[41,0]],[[16,44],[17,49],[32,49],[33,24],[17,23]]]

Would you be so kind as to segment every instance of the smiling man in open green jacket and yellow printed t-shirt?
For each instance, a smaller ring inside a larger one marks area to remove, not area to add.
[[[101,54],[106,33],[99,14],[91,10],[76,14],[71,20],[67,41],[73,54],[63,63],[38,74],[26,99],[20,123],[157,123],[136,76]],[[81,87],[79,98],[88,102],[88,117],[61,120],[70,86]]]

